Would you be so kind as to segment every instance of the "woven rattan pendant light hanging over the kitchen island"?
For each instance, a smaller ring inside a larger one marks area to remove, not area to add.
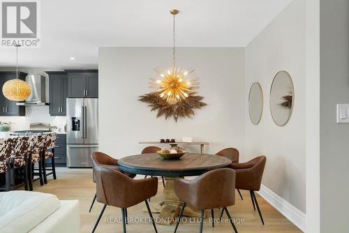
[[[27,82],[18,78],[18,47],[20,47],[20,45],[15,46],[17,54],[17,78],[8,80],[4,83],[2,93],[7,99],[12,101],[24,101],[30,96],[31,88]]]

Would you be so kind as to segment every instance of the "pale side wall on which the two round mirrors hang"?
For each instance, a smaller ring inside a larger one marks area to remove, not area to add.
[[[269,111],[269,90],[275,74],[290,73],[295,105],[287,125],[274,124]],[[306,212],[305,143],[305,2],[294,0],[246,47],[245,153],[242,160],[267,155],[262,184],[286,202]],[[248,92],[259,82],[264,107],[259,125],[248,116]]]

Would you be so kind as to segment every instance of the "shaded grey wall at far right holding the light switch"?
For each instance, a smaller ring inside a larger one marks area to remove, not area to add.
[[[348,232],[349,124],[336,104],[349,104],[349,1],[320,1],[320,232]]]

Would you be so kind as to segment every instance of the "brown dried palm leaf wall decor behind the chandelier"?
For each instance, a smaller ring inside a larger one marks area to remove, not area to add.
[[[139,101],[147,103],[151,107],[151,111],[158,111],[156,118],[165,116],[165,119],[173,117],[177,122],[179,117],[182,118],[193,118],[195,115],[194,109],[200,109],[206,106],[202,102],[204,97],[195,95],[195,93],[189,95],[186,99],[178,101],[176,104],[170,104],[168,101],[160,97],[158,92],[151,92],[144,94],[138,98]]]

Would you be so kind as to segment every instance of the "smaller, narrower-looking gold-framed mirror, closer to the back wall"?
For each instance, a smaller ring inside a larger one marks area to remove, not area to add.
[[[260,83],[252,83],[248,94],[248,113],[253,125],[258,125],[263,113],[263,91]]]

